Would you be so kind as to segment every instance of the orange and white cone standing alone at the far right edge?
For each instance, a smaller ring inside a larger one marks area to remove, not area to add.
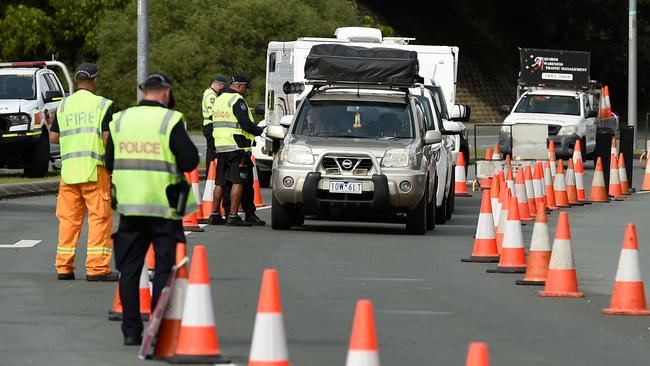
[[[645,287],[639,265],[639,245],[636,238],[636,225],[627,224],[623,249],[618,260],[616,282],[612,291],[609,308],[603,309],[608,315],[650,315],[645,302]]]

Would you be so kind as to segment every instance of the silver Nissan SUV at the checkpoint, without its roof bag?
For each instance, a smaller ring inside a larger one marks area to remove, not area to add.
[[[401,222],[406,232],[435,226],[438,179],[421,100],[408,88],[314,87],[295,116],[269,126],[283,140],[273,161],[273,229],[305,216]],[[290,121],[290,122],[289,122]]]

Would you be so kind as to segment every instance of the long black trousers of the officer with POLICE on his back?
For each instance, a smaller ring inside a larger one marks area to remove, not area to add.
[[[153,243],[156,253],[151,303],[153,313],[176,260],[176,244],[185,242],[183,224],[180,220],[120,215],[120,224],[113,234],[113,242],[115,266],[120,271],[122,333],[125,336],[138,336],[143,330],[140,317],[140,274],[149,244]]]

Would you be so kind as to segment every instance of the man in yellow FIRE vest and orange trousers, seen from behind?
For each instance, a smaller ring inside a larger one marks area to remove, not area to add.
[[[59,245],[55,267],[59,280],[74,280],[74,257],[88,211],[86,280],[117,281],[111,272],[113,211],[110,177],[104,168],[112,101],[95,95],[99,71],[81,64],[75,73],[79,90],[60,104],[50,128],[50,141],[61,145],[61,185],[56,204]]]

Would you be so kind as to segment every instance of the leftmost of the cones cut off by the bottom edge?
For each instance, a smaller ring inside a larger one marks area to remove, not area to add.
[[[264,270],[248,366],[289,366],[278,272]]]

